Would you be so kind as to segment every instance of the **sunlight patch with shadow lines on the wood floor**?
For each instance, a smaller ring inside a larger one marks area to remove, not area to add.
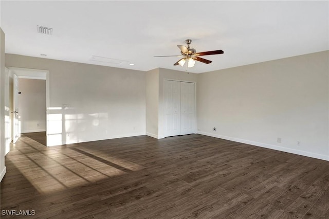
[[[22,158],[20,162],[15,161],[14,166],[42,194],[75,188],[143,169],[143,166],[137,163],[100,152],[88,152],[79,147],[50,150],[31,145],[24,138],[21,142],[26,147],[18,150],[22,153]],[[8,159],[10,160],[10,156]]]

